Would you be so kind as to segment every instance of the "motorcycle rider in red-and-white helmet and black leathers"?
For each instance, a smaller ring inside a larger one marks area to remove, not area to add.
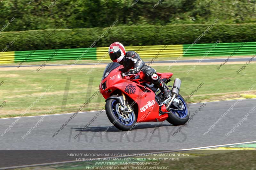
[[[161,92],[164,94],[164,100],[171,96],[170,89],[156,74],[156,70],[146,65],[140,58],[140,55],[135,51],[125,51],[123,44],[114,42],[109,46],[108,54],[113,62],[117,62],[124,66],[123,69],[119,69],[121,72],[125,72],[125,74],[136,74],[139,71],[142,71],[145,81],[151,82],[160,88]]]

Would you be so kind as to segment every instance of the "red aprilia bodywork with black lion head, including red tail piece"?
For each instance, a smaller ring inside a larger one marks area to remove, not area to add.
[[[108,75],[100,82],[100,93],[105,99],[108,99],[113,92],[119,90],[126,96],[129,96],[138,105],[138,118],[137,122],[159,122],[165,121],[168,118],[168,114],[159,115],[159,105],[155,100],[155,93],[147,88],[147,92],[144,86],[141,85],[143,74],[140,72],[137,74],[137,79],[130,79],[130,77],[122,78],[119,71],[123,66],[119,66],[116,69],[108,73]],[[172,73],[157,73],[158,76],[163,78],[171,78]],[[120,94],[121,95],[121,94]],[[165,106],[161,107],[162,111],[165,111]]]

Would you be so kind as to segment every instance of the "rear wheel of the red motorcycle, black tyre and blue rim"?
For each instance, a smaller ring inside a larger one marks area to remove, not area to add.
[[[179,99],[183,104],[183,110],[173,110],[169,108],[170,114],[169,117],[166,119],[167,122],[178,126],[178,125],[184,125],[188,122],[189,119],[189,108],[188,104],[185,101],[185,99],[179,94],[177,99]],[[172,106],[171,106],[172,107]]]

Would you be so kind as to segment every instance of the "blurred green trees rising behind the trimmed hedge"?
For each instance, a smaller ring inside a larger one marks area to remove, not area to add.
[[[239,2],[239,3],[238,3]],[[255,0],[0,0],[4,31],[121,25],[256,23]],[[160,4],[159,4],[160,3]],[[118,4],[118,5],[117,5]],[[153,8],[155,4],[159,4]],[[114,8],[114,9],[113,9]],[[3,32],[3,31],[2,31]]]

